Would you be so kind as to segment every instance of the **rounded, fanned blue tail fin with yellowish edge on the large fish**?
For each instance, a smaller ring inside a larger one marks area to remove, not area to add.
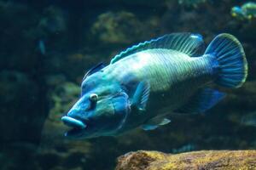
[[[230,34],[219,34],[209,44],[205,54],[218,60],[216,83],[225,88],[239,88],[247,78],[247,59],[241,43]]]

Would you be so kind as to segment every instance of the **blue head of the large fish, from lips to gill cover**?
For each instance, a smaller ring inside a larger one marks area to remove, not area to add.
[[[89,139],[116,134],[129,112],[128,95],[99,71],[84,80],[80,99],[61,119],[73,127],[67,137]]]

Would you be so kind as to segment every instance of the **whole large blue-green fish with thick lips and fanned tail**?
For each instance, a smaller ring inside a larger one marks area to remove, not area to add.
[[[202,113],[224,98],[210,88],[239,88],[247,59],[230,34],[215,37],[207,49],[193,33],[173,33],[139,43],[96,65],[82,82],[80,99],[61,118],[67,137],[115,136],[136,127],[153,130],[172,113]]]

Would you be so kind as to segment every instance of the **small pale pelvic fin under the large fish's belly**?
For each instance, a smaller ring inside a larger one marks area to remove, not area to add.
[[[154,130],[159,126],[163,126],[171,122],[171,120],[162,117],[155,117],[149,120],[146,124],[143,124],[143,130]]]

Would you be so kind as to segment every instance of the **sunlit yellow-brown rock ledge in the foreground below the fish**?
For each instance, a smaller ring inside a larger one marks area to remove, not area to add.
[[[256,150],[202,150],[177,155],[139,150],[119,156],[115,169],[256,169]]]

